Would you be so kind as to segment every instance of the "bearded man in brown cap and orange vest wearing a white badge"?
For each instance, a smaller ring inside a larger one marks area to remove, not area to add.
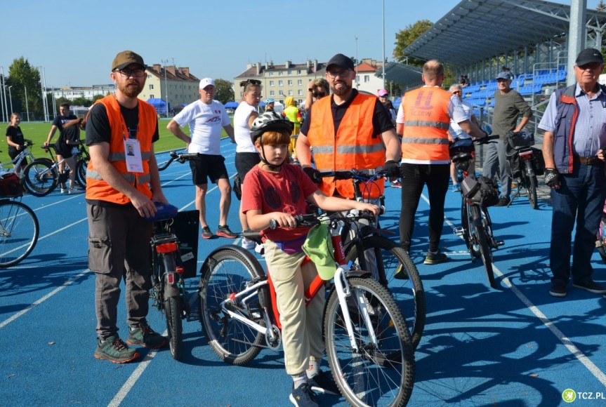
[[[147,325],[150,299],[150,238],[154,202],[166,202],[153,143],[159,139],[156,110],[137,96],[147,73],[133,51],[116,55],[110,74],[116,93],[98,100],[86,119],[88,267],[95,272],[98,346],[95,358],[114,363],[136,359],[119,335],[120,281],[126,285],[130,345],[159,348],[166,338]],[[133,155],[126,154],[133,151]]]

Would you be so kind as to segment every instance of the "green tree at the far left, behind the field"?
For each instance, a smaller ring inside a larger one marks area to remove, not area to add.
[[[29,112],[42,112],[42,90],[40,87],[40,72],[38,69],[29,65],[29,61],[23,57],[13,60],[8,67],[7,86],[13,86],[11,93],[13,95],[13,109],[15,101],[18,101],[20,111],[27,111],[25,107],[25,88],[27,87],[27,105]],[[16,110],[16,109],[15,109]]]

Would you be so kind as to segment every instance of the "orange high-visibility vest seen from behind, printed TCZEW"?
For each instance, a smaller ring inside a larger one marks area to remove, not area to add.
[[[448,105],[452,94],[435,86],[409,91],[404,96],[402,162],[448,164]]]

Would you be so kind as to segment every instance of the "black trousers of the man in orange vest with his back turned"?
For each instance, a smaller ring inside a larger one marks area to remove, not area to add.
[[[429,250],[440,247],[444,227],[444,201],[450,179],[449,164],[402,164],[402,210],[400,244],[409,250],[414,229],[414,215],[419,207],[423,186],[429,194]]]

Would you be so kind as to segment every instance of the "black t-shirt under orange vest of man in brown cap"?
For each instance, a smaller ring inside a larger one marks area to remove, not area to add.
[[[137,128],[139,126],[139,106],[133,109],[127,109],[120,106],[120,112],[124,117],[124,124],[129,131],[130,138],[136,138]],[[103,103],[97,103],[88,112],[86,119],[86,145],[91,145],[95,142],[110,142],[112,131],[110,129],[110,119],[107,116],[107,110]],[[152,142],[157,142],[160,136],[158,133],[158,122],[156,121],[156,130],[152,137]]]

